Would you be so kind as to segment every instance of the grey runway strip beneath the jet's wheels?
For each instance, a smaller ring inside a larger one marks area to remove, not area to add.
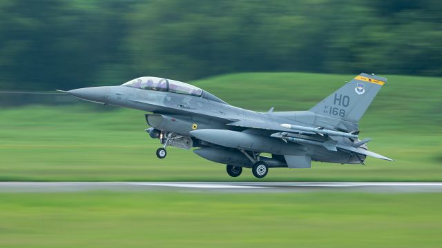
[[[0,192],[442,192],[442,183],[352,182],[1,182]]]

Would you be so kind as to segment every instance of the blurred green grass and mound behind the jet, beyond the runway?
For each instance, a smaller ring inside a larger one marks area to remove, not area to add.
[[[252,110],[307,110],[354,75],[249,73],[191,82]],[[369,148],[396,161],[366,166],[314,163],[271,169],[265,180],[442,180],[440,78],[387,76],[361,122]],[[224,165],[169,148],[158,160],[144,113],[93,103],[0,111],[0,180],[256,180],[230,178]]]

